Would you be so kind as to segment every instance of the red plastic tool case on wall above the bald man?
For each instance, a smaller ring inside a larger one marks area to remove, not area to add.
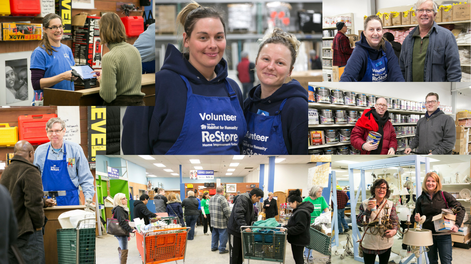
[[[18,116],[18,134],[20,140],[26,140],[31,145],[41,145],[49,142],[46,133],[46,123],[56,114]]]

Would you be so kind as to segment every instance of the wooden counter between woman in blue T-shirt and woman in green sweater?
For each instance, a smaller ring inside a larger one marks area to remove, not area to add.
[[[44,88],[44,105],[103,105],[103,99],[100,97],[99,92],[100,87],[78,91]],[[144,96],[146,106],[154,106],[155,73],[142,75],[141,92],[146,94]]]

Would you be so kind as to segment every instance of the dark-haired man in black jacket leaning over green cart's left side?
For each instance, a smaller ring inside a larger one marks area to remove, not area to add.
[[[242,264],[242,237],[241,226],[250,226],[253,221],[253,204],[263,198],[263,191],[253,188],[250,194],[243,193],[237,198],[231,216],[227,222],[229,233],[229,264]],[[250,229],[249,229],[250,230]]]

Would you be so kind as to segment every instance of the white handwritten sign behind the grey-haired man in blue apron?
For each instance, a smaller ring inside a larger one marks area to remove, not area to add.
[[[57,117],[65,122],[64,139],[81,144],[80,141],[80,109],[78,106],[58,106]]]

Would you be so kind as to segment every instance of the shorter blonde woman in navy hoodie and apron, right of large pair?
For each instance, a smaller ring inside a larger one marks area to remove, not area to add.
[[[262,39],[255,70],[260,85],[244,101],[243,155],[307,155],[308,92],[290,77],[300,42],[275,28]]]

